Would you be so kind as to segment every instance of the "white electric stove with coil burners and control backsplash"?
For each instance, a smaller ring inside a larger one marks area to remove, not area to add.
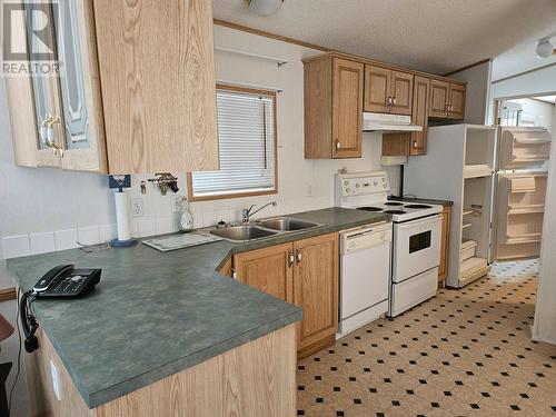
[[[385,171],[340,172],[336,176],[338,207],[391,216],[388,315],[395,317],[436,295],[443,207],[388,201],[389,190]]]

